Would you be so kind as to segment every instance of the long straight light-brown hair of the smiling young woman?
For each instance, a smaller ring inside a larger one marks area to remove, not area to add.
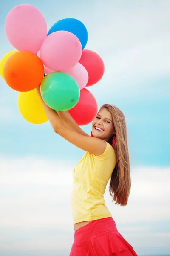
[[[123,112],[115,105],[104,104],[101,108],[110,111],[116,131],[116,158],[117,163],[111,176],[109,191],[115,204],[125,206],[128,201],[131,188],[130,160],[127,144],[127,127]],[[109,143],[112,145],[113,136]]]

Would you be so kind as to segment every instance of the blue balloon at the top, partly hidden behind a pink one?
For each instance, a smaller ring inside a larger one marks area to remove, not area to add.
[[[68,31],[76,35],[82,44],[82,49],[85,48],[88,41],[88,31],[80,20],[74,18],[59,20],[51,27],[47,35],[60,30]]]

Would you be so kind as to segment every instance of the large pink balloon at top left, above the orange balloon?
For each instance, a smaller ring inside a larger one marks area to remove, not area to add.
[[[47,36],[47,24],[39,9],[20,4],[8,13],[5,32],[15,49],[37,54]]]

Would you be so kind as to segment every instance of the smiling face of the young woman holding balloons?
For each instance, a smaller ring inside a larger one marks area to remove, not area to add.
[[[100,109],[92,122],[93,136],[108,142],[114,133],[115,129],[111,112],[106,108]]]

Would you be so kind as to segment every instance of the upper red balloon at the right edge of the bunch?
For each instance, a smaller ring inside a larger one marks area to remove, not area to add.
[[[102,78],[105,65],[102,58],[96,52],[86,49],[83,50],[79,63],[88,71],[88,83],[86,87],[96,84]]]

